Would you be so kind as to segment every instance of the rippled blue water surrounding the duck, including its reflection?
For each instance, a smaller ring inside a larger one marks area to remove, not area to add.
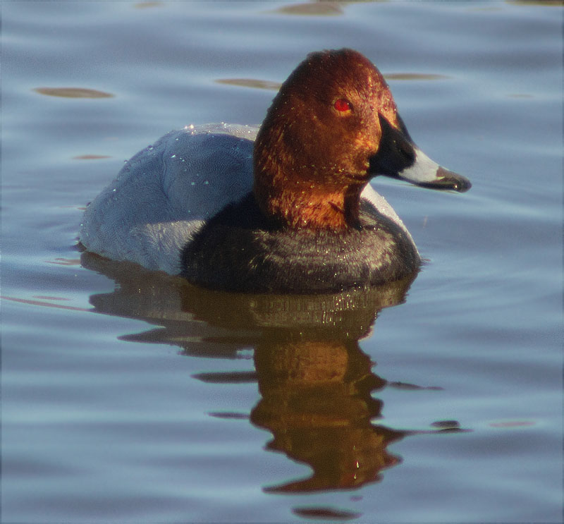
[[[1,16],[3,522],[562,520],[561,4]],[[413,283],[225,295],[76,250],[126,158],[259,123],[307,52],[343,46],[474,184],[374,181],[429,260]]]

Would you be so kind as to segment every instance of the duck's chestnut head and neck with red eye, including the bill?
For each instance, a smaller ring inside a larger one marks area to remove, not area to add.
[[[283,83],[257,135],[255,199],[279,226],[358,224],[374,176],[466,191],[467,178],[421,152],[381,73],[352,49],[312,53]]]

